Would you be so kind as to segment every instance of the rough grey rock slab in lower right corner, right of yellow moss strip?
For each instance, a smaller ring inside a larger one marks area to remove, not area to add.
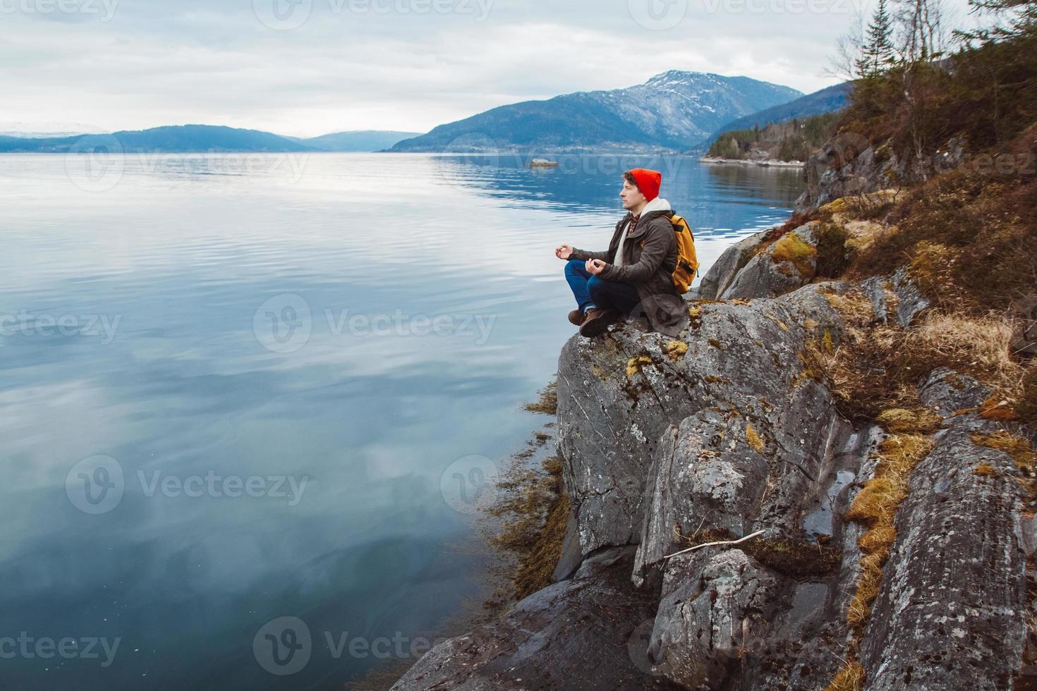
[[[998,429],[954,419],[912,473],[862,646],[869,691],[1006,689],[1022,665],[1033,615],[1022,473],[972,438]]]

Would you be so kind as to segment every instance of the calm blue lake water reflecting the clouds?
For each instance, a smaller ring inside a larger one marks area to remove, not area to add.
[[[0,688],[341,688],[478,598],[574,332],[554,248],[653,167],[704,275],[802,188],[561,162],[0,156]]]

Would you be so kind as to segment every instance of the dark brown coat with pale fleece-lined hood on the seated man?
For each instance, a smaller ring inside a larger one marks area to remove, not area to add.
[[[638,227],[623,242],[623,265],[616,266],[616,246],[623,226],[634,219],[627,213],[616,224],[612,241],[605,252],[572,249],[569,259],[600,259],[606,262],[598,278],[630,283],[641,298],[641,312],[651,327],[670,338],[676,338],[688,324],[688,305],[673,287],[673,269],[677,265],[677,239],[670,217],[673,210],[666,200],[653,199],[641,212]]]

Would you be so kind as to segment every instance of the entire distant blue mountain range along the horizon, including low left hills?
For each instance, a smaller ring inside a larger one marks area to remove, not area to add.
[[[748,77],[670,70],[625,89],[581,91],[501,106],[424,135],[360,131],[304,139],[258,129],[187,124],[110,135],[0,135],[0,152],[107,150],[113,142],[125,152],[700,152],[724,132],[839,110],[849,88],[848,83],[839,84],[803,95],[795,89]],[[32,125],[26,127],[33,131]],[[46,127],[34,131],[46,132]]]

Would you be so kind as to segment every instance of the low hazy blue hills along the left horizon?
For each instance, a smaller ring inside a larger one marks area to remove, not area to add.
[[[111,135],[24,138],[0,136],[0,152],[109,150],[113,140],[125,152],[141,151],[376,151],[392,146],[414,133],[340,132],[312,139],[281,137],[258,129],[239,129],[207,124],[168,125],[150,129],[115,132]]]

